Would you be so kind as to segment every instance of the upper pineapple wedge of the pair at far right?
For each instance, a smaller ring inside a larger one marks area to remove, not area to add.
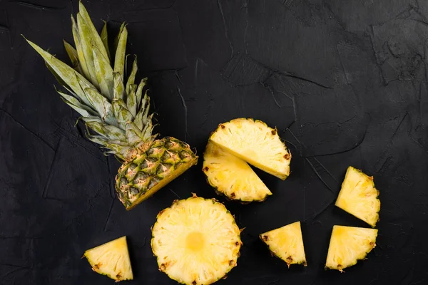
[[[373,177],[350,166],[337,197],[336,206],[375,227],[380,210],[378,195],[379,191],[374,188]]]

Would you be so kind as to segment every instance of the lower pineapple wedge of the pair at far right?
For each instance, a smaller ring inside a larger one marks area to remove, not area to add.
[[[334,226],[328,247],[326,269],[343,269],[357,264],[376,247],[377,229]]]

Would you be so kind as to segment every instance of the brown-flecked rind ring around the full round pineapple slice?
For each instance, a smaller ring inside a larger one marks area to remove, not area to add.
[[[157,228],[157,227],[162,227],[161,222],[160,222],[160,217],[161,217],[163,214],[165,214],[165,212],[167,212],[167,210],[169,210],[169,209],[174,209],[174,208],[178,208],[178,207],[183,207],[183,204],[184,204],[186,201],[190,200],[190,199],[198,199],[198,200],[200,200],[200,201],[202,201],[202,202],[210,202],[211,204],[221,205],[221,207],[223,207],[223,208],[224,208],[225,213],[227,213],[228,215],[232,216],[232,214],[230,214],[230,212],[228,211],[228,209],[226,209],[226,207],[224,206],[224,204],[223,204],[223,203],[221,203],[221,202],[219,202],[217,199],[214,199],[214,198],[212,198],[212,199],[205,199],[205,198],[203,198],[203,197],[198,197],[197,195],[195,195],[195,193],[193,193],[193,196],[192,196],[192,197],[189,197],[189,198],[187,198],[187,199],[180,199],[180,200],[175,199],[175,200],[173,201],[173,204],[171,204],[171,206],[170,206],[170,207],[168,207],[168,208],[166,208],[166,209],[163,209],[163,210],[162,210],[161,212],[159,212],[159,213],[158,213],[158,215],[156,216],[156,222],[155,222],[155,224],[153,224],[153,227],[151,227],[151,231],[152,231],[151,248],[152,248],[152,251],[153,251],[153,255],[156,257],[156,260],[157,260],[157,262],[158,262],[159,271],[164,272],[164,273],[165,273],[165,274],[167,274],[171,279],[173,279],[173,280],[177,281],[179,284],[186,284],[186,285],[209,285],[209,284],[213,284],[213,283],[215,283],[216,281],[218,281],[218,280],[220,280],[220,279],[225,279],[225,278],[226,278],[226,276],[227,276],[227,274],[230,272],[230,270],[232,270],[235,266],[237,266],[237,265],[238,265],[238,258],[240,257],[240,247],[242,247],[242,245],[243,245],[243,242],[241,241],[241,238],[240,238],[240,232],[242,231],[242,229],[239,229],[238,224],[236,224],[236,222],[235,222],[234,216],[232,216],[232,217],[233,217],[233,224],[232,224],[231,226],[232,226],[232,227],[235,227],[235,229],[236,229],[236,237],[235,237],[235,238],[236,238],[236,242],[235,242],[235,244],[234,244],[234,246],[235,246],[235,252],[236,252],[236,254],[235,254],[235,259],[234,259],[234,260],[230,260],[230,261],[229,261],[229,267],[228,267],[228,270],[226,270],[226,271],[224,272],[224,275],[223,275],[223,276],[219,276],[219,277],[218,277],[218,279],[213,280],[213,281],[210,281],[209,283],[201,284],[200,282],[198,282],[198,281],[196,281],[196,280],[195,280],[195,281],[193,281],[193,282],[190,282],[190,283],[186,283],[185,281],[180,281],[180,280],[174,279],[174,278],[173,278],[173,276],[170,276],[170,274],[168,274],[168,272],[167,272],[167,270],[166,270],[166,269],[167,269],[167,267],[168,267],[168,264],[167,264],[167,265],[165,265],[165,264],[164,264],[164,262],[165,262],[165,261],[163,261],[163,259],[161,259],[161,257],[158,257],[157,252],[156,252],[156,247],[154,246],[154,243],[156,242],[156,235],[155,235],[156,228]]]

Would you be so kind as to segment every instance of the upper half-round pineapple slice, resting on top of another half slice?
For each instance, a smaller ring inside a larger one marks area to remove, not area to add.
[[[280,140],[277,130],[260,120],[230,120],[220,124],[210,140],[250,165],[282,180],[290,175],[290,152]]]

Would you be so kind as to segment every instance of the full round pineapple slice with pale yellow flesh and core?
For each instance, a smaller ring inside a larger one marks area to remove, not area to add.
[[[159,270],[182,284],[208,285],[237,264],[240,229],[215,199],[175,200],[158,214],[151,247]]]

